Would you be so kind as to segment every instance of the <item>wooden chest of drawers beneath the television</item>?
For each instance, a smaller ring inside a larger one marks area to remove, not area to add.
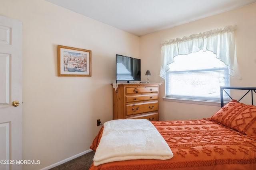
[[[113,88],[114,119],[158,121],[160,83],[122,83]]]

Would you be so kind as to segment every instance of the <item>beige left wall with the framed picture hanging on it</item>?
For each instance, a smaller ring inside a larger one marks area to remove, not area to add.
[[[23,159],[37,170],[89,150],[112,119],[116,54],[139,58],[139,38],[44,0],[1,0],[23,23]],[[58,77],[57,45],[92,51],[91,77]]]

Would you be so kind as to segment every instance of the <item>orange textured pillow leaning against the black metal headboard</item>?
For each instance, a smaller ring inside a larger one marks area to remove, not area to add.
[[[256,136],[256,106],[232,100],[211,119],[246,135]]]

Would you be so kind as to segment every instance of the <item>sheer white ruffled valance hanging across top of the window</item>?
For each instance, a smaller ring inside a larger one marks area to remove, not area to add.
[[[192,34],[182,39],[176,38],[161,44],[160,76],[165,79],[169,64],[174,62],[177,55],[186,55],[192,52],[211,51],[216,58],[223,61],[230,69],[230,75],[240,79],[234,38],[235,26],[226,26],[224,29],[214,29],[204,33]]]

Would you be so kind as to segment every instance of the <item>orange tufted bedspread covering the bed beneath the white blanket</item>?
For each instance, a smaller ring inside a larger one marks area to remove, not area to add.
[[[152,121],[170,146],[169,160],[126,160],[92,166],[90,170],[255,170],[256,138],[210,119]],[[96,150],[103,128],[94,139]],[[149,148],[150,149],[150,148]]]

